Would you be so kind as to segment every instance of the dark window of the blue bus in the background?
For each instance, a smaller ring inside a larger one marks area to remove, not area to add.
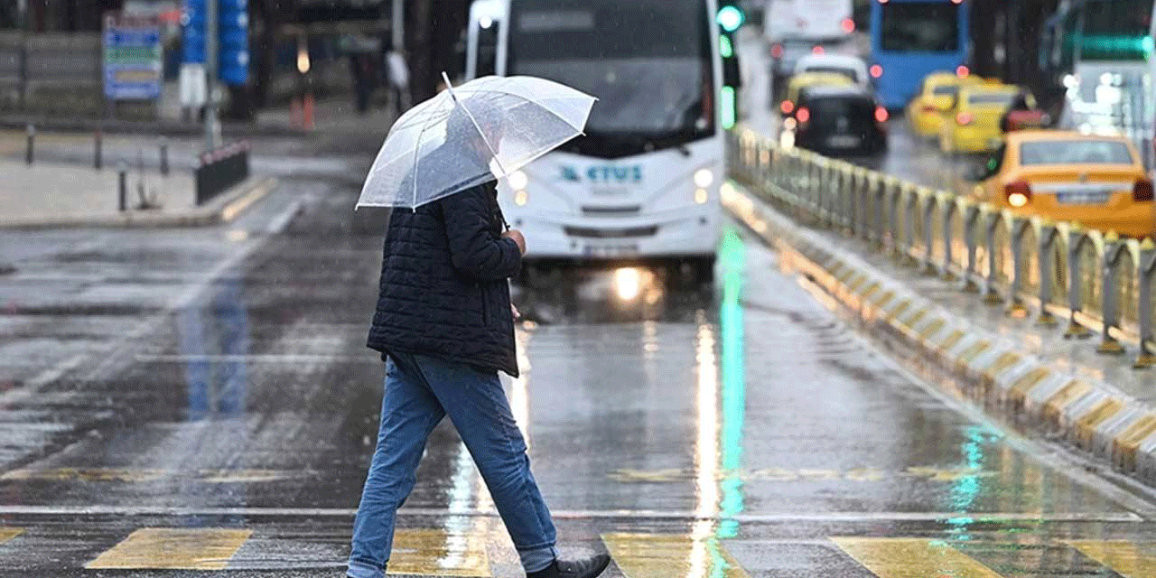
[[[888,52],[955,52],[959,50],[959,5],[949,2],[887,2],[881,6],[882,49]]]

